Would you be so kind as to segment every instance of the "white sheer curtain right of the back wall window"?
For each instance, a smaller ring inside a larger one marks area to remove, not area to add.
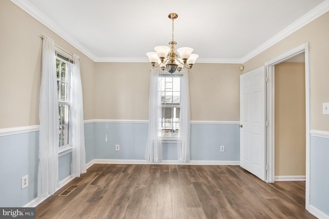
[[[190,89],[189,73],[183,72],[180,91],[179,132],[177,142],[178,160],[182,163],[190,161]]]

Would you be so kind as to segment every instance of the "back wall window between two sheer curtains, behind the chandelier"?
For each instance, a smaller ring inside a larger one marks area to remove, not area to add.
[[[162,74],[160,77],[161,127],[163,137],[178,137],[180,113],[180,74]]]

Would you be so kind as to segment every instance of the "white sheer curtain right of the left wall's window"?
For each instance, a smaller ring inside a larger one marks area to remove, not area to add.
[[[69,140],[72,145],[71,175],[79,177],[86,172],[84,147],[83,102],[79,56],[73,55],[74,66],[71,75],[71,104]]]

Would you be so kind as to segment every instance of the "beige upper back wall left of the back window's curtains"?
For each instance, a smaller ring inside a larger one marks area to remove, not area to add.
[[[96,63],[95,118],[149,119],[149,63]]]

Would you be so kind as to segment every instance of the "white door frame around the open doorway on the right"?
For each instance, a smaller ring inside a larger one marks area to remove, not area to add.
[[[267,73],[267,85],[266,85],[266,120],[268,122],[268,127],[266,130],[266,156],[267,156],[267,182],[274,183],[275,179],[275,124],[274,124],[274,97],[275,97],[275,65],[278,65],[287,59],[297,56],[300,53],[305,53],[305,113],[306,113],[306,181],[305,181],[305,208],[309,209],[310,201],[310,84],[309,84],[309,57],[308,57],[308,42],[302,44],[295,49],[292,49],[284,54],[277,56],[265,63],[266,73]]]

